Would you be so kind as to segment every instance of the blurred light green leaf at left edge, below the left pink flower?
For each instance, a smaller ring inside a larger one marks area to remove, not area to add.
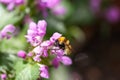
[[[25,41],[22,38],[11,38],[0,42],[0,51],[3,53],[16,54],[19,50],[24,50],[26,47]]]

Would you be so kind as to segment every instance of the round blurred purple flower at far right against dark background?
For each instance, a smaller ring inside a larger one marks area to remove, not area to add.
[[[109,7],[105,11],[105,17],[109,22],[117,22],[120,19],[120,10],[118,7]]]

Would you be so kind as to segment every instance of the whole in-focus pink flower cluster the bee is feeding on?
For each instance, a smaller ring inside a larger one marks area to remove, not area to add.
[[[25,59],[32,58],[40,67],[40,76],[43,78],[49,78],[48,65],[52,65],[57,68],[59,63],[64,65],[71,65],[72,60],[65,56],[63,49],[54,46],[56,40],[62,36],[62,34],[55,32],[49,40],[43,40],[46,34],[47,22],[40,20],[38,23],[31,22],[27,35],[27,41],[34,47],[27,55],[24,51],[19,51],[18,56]]]

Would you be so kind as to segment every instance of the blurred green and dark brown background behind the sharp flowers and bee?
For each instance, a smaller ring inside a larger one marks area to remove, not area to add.
[[[45,39],[60,32],[73,47],[73,64],[51,69],[50,80],[120,80],[120,0],[62,0],[67,13],[55,16],[48,10],[46,18],[36,10],[33,1],[12,12],[0,4],[0,29],[7,24],[17,26],[15,37],[0,42],[2,68],[11,69],[11,58],[15,58],[12,55],[28,50],[24,37],[28,23],[24,19],[29,14],[35,22],[47,21]]]

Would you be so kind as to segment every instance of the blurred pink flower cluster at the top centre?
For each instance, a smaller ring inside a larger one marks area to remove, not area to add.
[[[47,9],[50,9],[54,15],[64,15],[66,13],[66,8],[61,4],[61,0],[37,0],[36,3],[43,16],[47,16]]]

